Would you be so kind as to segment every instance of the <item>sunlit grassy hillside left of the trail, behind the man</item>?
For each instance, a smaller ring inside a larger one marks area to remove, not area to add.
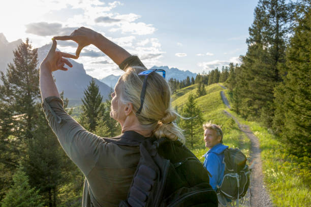
[[[181,110],[182,105],[187,101],[188,96],[192,93],[195,94],[197,90],[197,84],[191,85],[178,90],[173,95],[173,106]],[[224,90],[217,84],[205,86],[207,92],[206,95],[196,99],[197,106],[203,112],[204,122],[212,121],[215,124],[222,126],[224,132],[224,144],[229,147],[238,147],[242,150],[246,156],[250,154],[250,141],[247,139],[244,133],[241,133],[234,120],[224,114],[226,106],[224,105],[220,92]],[[202,145],[196,149],[191,149],[194,154],[204,161],[202,155],[204,155],[208,149],[205,148],[203,141],[203,128],[202,128]]]

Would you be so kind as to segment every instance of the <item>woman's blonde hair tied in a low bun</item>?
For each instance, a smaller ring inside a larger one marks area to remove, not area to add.
[[[128,67],[120,77],[120,101],[123,104],[131,102],[134,112],[140,107],[140,94],[145,76],[138,76],[145,67]],[[171,89],[166,80],[158,73],[148,75],[145,99],[142,110],[136,113],[139,123],[144,130],[151,130],[160,139],[184,141],[180,128],[173,123],[179,114],[171,106]]]

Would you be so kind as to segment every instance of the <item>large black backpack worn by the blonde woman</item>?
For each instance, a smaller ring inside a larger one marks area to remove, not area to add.
[[[126,200],[129,206],[218,206],[215,191],[209,185],[209,172],[181,142],[150,137],[139,143],[140,160]]]

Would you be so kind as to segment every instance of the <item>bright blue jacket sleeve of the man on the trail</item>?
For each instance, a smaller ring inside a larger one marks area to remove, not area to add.
[[[220,162],[217,155],[214,153],[209,153],[205,158],[204,166],[211,174],[211,177],[209,177],[209,184],[214,190],[217,190],[217,181],[220,177]]]

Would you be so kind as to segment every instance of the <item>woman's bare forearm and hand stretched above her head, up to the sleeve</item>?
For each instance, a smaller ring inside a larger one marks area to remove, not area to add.
[[[78,43],[76,57],[78,58],[81,50],[90,44],[95,45],[103,53],[109,56],[117,65],[123,60],[131,56],[125,49],[108,40],[102,34],[85,27],[80,27],[74,30],[69,36],[57,36],[55,40],[73,40]]]

